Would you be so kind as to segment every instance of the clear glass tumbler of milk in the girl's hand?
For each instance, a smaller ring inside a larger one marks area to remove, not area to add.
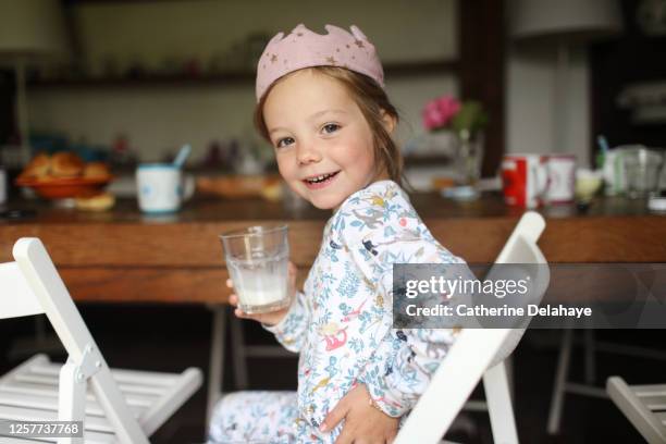
[[[246,313],[264,313],[289,305],[286,225],[258,225],[222,234],[226,268]]]

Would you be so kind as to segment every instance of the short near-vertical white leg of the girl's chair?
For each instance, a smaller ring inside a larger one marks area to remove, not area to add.
[[[493,441],[502,444],[517,444],[518,431],[504,362],[497,363],[483,373],[483,388],[491,418]]]

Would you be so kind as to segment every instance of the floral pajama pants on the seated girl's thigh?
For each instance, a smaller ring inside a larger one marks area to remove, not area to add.
[[[296,392],[235,392],[213,410],[208,444],[292,444],[298,417]]]

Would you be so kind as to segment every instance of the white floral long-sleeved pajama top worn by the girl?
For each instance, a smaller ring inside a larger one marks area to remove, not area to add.
[[[297,436],[321,433],[326,414],[357,382],[393,417],[416,404],[454,341],[452,330],[392,329],[394,263],[464,263],[440,245],[392,181],[349,196],[324,227],[303,293],[267,328],[299,351]]]

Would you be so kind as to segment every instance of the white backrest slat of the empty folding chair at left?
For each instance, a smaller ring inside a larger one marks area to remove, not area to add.
[[[0,263],[0,319],[44,313],[16,262]]]

